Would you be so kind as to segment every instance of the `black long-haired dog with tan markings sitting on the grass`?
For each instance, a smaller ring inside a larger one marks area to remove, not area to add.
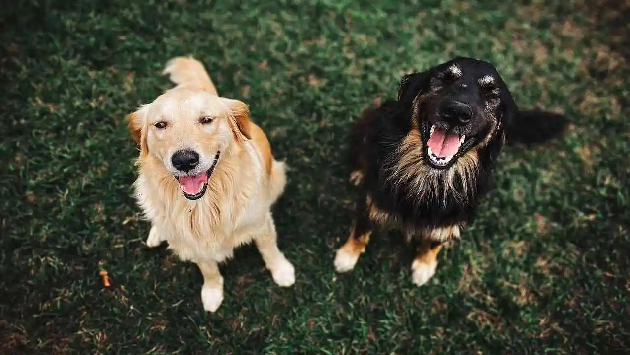
[[[427,282],[442,247],[475,218],[506,141],[538,144],[566,118],[520,111],[495,67],[455,57],[404,76],[396,100],[364,110],[350,130],[350,183],[358,189],[335,269],[348,272],[373,230],[398,230],[416,250],[412,281]]]

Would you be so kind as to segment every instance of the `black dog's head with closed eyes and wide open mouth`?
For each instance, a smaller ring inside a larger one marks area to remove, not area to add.
[[[423,154],[435,169],[449,168],[469,151],[502,139],[518,112],[495,67],[467,57],[404,77],[398,102],[411,105]]]

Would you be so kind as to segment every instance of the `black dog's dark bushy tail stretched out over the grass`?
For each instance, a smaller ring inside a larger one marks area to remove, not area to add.
[[[505,127],[508,145],[537,144],[561,136],[568,125],[564,115],[538,110],[520,111],[517,119]]]

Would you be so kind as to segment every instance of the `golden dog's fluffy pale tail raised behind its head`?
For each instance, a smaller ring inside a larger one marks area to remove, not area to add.
[[[162,74],[180,87],[197,88],[219,95],[203,63],[193,57],[175,57],[166,63]]]

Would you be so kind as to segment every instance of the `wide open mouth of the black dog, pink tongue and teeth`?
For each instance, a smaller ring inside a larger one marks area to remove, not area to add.
[[[428,124],[427,124],[428,125]],[[473,143],[474,137],[457,134],[432,125],[427,135],[427,157],[431,165],[445,168],[464,153]]]

